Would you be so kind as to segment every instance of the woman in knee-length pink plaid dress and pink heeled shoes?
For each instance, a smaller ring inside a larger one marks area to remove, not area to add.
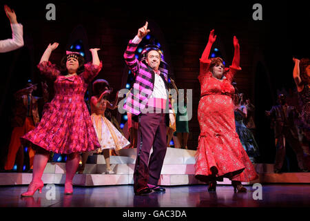
[[[34,130],[21,137],[23,143],[36,147],[32,182],[22,196],[32,196],[43,188],[41,177],[48,162],[50,151],[67,154],[65,163],[65,194],[72,194],[72,180],[79,166],[79,153],[99,148],[98,138],[84,102],[88,84],[98,75],[102,64],[97,50],[92,48],[92,64],[84,65],[84,59],[77,52],[67,52],[61,64],[65,74],[48,59],[58,43],[49,44],[38,68],[42,75],[54,80],[55,96],[44,107],[43,117]]]

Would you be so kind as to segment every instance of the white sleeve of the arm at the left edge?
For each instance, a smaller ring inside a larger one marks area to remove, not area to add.
[[[0,41],[0,52],[9,52],[23,46],[23,25],[11,23],[12,39]]]

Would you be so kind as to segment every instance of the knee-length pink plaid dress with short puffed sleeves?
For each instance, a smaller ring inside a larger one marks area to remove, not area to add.
[[[38,65],[41,74],[54,79],[55,96],[45,104],[43,117],[34,130],[23,135],[23,143],[31,142],[47,151],[70,154],[94,151],[99,144],[90,113],[84,101],[87,86],[98,75],[99,66],[85,64],[85,71],[71,77],[61,76],[50,61]]]

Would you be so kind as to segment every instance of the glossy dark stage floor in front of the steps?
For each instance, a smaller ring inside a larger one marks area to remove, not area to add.
[[[208,193],[206,185],[167,186],[165,193],[134,195],[132,185],[74,186],[73,195],[64,195],[63,185],[47,186],[34,197],[20,198],[27,186],[0,186],[1,207],[269,207],[310,206],[309,184],[263,184],[262,200],[254,200],[256,189],[234,193],[232,186],[217,186]],[[51,194],[54,190],[54,195]]]

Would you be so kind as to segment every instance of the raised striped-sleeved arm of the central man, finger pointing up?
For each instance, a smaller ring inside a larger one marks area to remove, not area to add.
[[[145,25],[142,28],[138,29],[138,34],[134,39],[130,40],[125,53],[124,53],[124,59],[125,63],[127,64],[128,68],[132,70],[132,73],[136,75],[138,72],[138,59],[136,59],[134,53],[136,52],[136,48],[138,47],[138,44],[142,41],[143,37],[149,33],[149,29],[147,29],[148,23],[145,22]]]

